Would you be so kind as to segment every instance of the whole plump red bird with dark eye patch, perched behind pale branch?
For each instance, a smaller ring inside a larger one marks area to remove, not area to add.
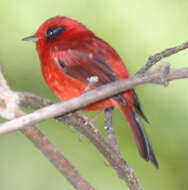
[[[24,38],[36,42],[43,77],[52,92],[62,101],[80,96],[88,86],[88,78],[98,77],[90,90],[119,79],[129,72],[119,55],[106,42],[84,25],[68,17],[57,16],[44,22],[34,36]],[[158,163],[138,120],[144,116],[135,91],[128,90],[96,102],[84,110],[119,108],[126,118],[142,158]]]

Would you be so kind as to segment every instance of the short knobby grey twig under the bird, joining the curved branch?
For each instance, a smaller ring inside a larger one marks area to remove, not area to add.
[[[118,147],[117,141],[116,141],[114,127],[112,125],[112,112],[113,112],[113,107],[106,108],[104,110],[104,113],[105,113],[104,129],[107,132],[107,141],[113,146],[113,148],[116,150],[116,152],[118,154],[120,154],[119,147]]]

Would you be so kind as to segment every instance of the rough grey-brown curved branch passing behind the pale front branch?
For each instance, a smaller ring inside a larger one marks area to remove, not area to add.
[[[51,104],[48,100],[43,99],[31,94],[17,92],[20,95],[20,105],[28,107],[28,103],[25,104],[25,99],[36,99],[39,102],[40,107],[46,106],[46,102]],[[29,102],[32,102],[29,100]],[[43,103],[44,104],[43,104]],[[36,109],[36,103],[30,104],[29,107]],[[38,108],[38,106],[37,106]],[[127,164],[125,160],[121,157],[119,150],[114,147],[114,144],[105,141],[102,135],[99,133],[98,129],[88,122],[87,118],[78,112],[68,114],[66,116],[58,117],[56,120],[63,122],[67,125],[74,127],[79,133],[87,137],[90,142],[96,146],[96,148],[101,152],[101,154],[108,160],[110,165],[116,170],[117,174],[127,183],[130,190],[141,190],[141,186],[138,183],[132,168]]]

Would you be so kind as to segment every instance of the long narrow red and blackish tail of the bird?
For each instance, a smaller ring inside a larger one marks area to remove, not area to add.
[[[154,166],[158,168],[157,160],[145,135],[144,129],[138,120],[137,113],[129,105],[120,105],[120,109],[128,122],[141,157],[146,161],[152,162]]]

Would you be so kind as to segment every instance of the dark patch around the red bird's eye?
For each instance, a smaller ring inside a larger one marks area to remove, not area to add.
[[[47,41],[51,41],[65,31],[65,26],[52,26],[48,28],[45,32]]]

